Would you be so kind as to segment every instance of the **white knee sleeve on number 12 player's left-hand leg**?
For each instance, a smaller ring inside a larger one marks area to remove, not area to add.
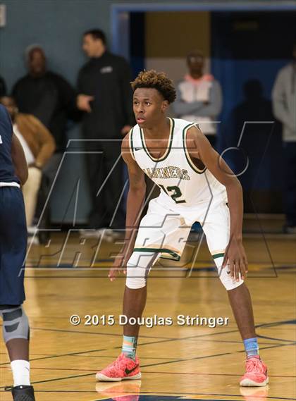
[[[126,266],[126,286],[132,290],[143,288],[155,259],[153,252],[133,252]]]

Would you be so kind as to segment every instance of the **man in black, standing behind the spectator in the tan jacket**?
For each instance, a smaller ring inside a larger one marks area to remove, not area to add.
[[[43,205],[49,194],[51,183],[61,163],[66,149],[68,118],[77,120],[80,112],[76,108],[76,92],[61,75],[47,69],[47,58],[39,45],[32,45],[25,52],[28,73],[20,78],[13,87],[20,113],[32,114],[51,132],[56,142],[56,152],[42,168],[42,183],[37,202],[37,215],[42,215],[38,227],[48,228],[49,210],[42,213]],[[40,235],[43,235],[40,232]],[[46,242],[39,237],[40,242]]]

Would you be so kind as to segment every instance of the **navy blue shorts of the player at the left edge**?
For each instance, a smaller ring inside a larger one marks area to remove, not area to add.
[[[0,187],[0,305],[19,305],[25,300],[26,251],[23,193],[18,187]]]

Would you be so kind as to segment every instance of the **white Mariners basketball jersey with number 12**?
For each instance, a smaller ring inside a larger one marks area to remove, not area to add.
[[[133,159],[161,189],[159,201],[173,209],[196,207],[220,197],[226,199],[226,188],[206,168],[199,170],[190,159],[186,135],[195,123],[169,118],[171,123],[168,147],[155,159],[147,149],[144,131],[135,125],[130,131],[130,152]]]

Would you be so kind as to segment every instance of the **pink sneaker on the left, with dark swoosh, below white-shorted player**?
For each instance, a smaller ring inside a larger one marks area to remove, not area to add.
[[[112,362],[96,374],[97,381],[136,380],[141,378],[140,361],[135,362],[121,353],[116,361]]]

